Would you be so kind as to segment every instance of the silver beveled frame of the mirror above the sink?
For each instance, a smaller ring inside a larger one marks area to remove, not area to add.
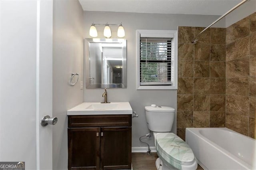
[[[90,84],[90,43],[122,43],[122,57],[123,57],[123,70],[122,70],[122,83],[111,84]],[[86,89],[96,88],[126,88],[127,85],[127,66],[126,66],[126,39],[122,38],[84,38],[84,81]]]

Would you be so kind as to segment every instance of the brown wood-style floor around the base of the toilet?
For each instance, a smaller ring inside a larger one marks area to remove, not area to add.
[[[151,152],[150,155],[147,153],[132,153],[132,170],[157,170],[156,169],[156,159],[157,154]],[[203,170],[203,168],[198,165],[197,170]]]

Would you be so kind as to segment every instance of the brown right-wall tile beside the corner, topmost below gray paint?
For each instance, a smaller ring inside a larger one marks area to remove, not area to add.
[[[232,43],[236,40],[249,36],[250,22],[248,18],[244,18],[235,24],[226,28],[226,43]]]

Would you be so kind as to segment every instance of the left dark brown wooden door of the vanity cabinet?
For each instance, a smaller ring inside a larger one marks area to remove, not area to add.
[[[100,169],[100,128],[68,128],[68,169]]]

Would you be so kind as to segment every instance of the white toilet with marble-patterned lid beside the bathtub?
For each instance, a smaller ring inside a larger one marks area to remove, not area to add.
[[[172,124],[175,109],[166,106],[146,106],[146,121],[149,130],[153,132],[158,170],[196,170],[197,162],[191,148],[174,133]]]

